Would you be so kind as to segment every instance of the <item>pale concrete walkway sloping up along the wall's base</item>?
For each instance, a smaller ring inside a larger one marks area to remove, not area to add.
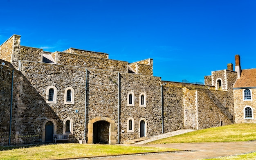
[[[160,134],[158,136],[149,137],[149,139],[137,142],[137,143],[135,143],[135,145],[143,145],[143,144],[146,144],[148,142],[152,142],[154,140],[159,140],[159,139],[163,139],[163,138],[167,138],[167,137],[171,137],[171,136],[176,136],[176,135],[179,135],[179,134],[184,134],[184,133],[192,132],[192,131],[196,131],[196,130],[195,129],[180,129],[180,130],[177,130],[177,131]]]

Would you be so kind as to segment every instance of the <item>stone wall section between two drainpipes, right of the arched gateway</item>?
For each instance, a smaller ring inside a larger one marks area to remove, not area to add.
[[[153,136],[162,133],[161,114],[161,79],[146,75],[134,75],[120,73],[121,88],[121,115],[120,115],[120,142],[128,139],[139,138],[139,121],[146,122],[146,136]],[[135,96],[134,106],[128,106],[128,92],[133,92]],[[139,107],[139,95],[145,93],[146,107]],[[127,132],[128,118],[132,117],[135,123],[134,132]]]

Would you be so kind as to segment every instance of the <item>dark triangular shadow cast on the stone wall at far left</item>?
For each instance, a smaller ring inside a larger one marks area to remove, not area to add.
[[[12,69],[4,68],[4,73],[11,72]],[[2,75],[1,75],[2,78]],[[8,81],[4,81],[5,86],[2,88],[6,92],[0,92],[1,97],[6,99],[0,99],[0,103],[7,104],[8,107],[1,107],[1,118],[5,118],[2,121],[4,127],[0,127],[0,145],[7,145],[9,141],[9,119],[10,119],[10,107],[11,107],[11,74],[9,74]],[[9,98],[7,98],[9,97]],[[6,102],[7,101],[7,102]],[[4,108],[4,109],[3,109]],[[7,110],[6,110],[7,109]],[[4,112],[2,112],[4,110]],[[58,129],[53,128],[51,133],[62,133],[63,123],[57,114],[52,110],[51,106],[45,103],[45,99],[37,92],[37,90],[29,83],[27,78],[22,75],[18,70],[14,71],[13,79],[13,108],[12,108],[12,121],[11,121],[11,145],[20,143],[39,143],[44,141],[43,123],[47,120],[53,119],[56,122]],[[54,127],[54,126],[53,126]]]

